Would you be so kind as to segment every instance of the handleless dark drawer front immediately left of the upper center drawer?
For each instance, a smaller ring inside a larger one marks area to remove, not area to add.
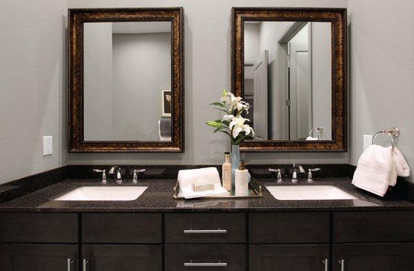
[[[161,214],[82,214],[83,243],[161,243]]]

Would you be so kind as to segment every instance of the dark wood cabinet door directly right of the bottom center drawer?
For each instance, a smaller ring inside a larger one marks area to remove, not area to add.
[[[250,271],[327,271],[329,245],[250,245]]]

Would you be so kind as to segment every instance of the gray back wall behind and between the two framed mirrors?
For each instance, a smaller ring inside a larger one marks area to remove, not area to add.
[[[185,14],[186,152],[184,154],[68,154],[70,164],[215,164],[230,150],[225,135],[204,123],[221,114],[208,104],[230,88],[230,11],[233,6],[346,7],[346,0],[68,0],[68,8],[183,6]],[[206,148],[208,145],[208,148]],[[243,154],[249,163],[348,163],[346,153]]]

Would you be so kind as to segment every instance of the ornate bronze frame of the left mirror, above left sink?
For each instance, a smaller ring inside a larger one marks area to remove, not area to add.
[[[171,141],[86,141],[83,137],[84,23],[141,21],[171,23]],[[68,152],[184,152],[183,8],[97,8],[68,11]]]

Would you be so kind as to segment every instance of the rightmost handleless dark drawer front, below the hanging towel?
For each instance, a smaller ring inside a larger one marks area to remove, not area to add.
[[[414,211],[335,212],[333,241],[414,241]]]

